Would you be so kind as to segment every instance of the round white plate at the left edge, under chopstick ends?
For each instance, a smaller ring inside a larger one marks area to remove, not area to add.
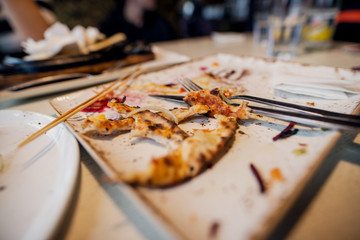
[[[79,148],[60,124],[17,145],[53,120],[33,112],[0,111],[0,239],[49,239],[70,202]]]

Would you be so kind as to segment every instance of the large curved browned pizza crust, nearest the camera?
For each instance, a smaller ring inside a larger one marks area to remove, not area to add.
[[[216,114],[217,128],[197,130],[176,149],[165,156],[153,158],[145,172],[119,176],[121,181],[135,185],[167,187],[193,178],[212,166],[225,152],[235,135],[237,120]]]

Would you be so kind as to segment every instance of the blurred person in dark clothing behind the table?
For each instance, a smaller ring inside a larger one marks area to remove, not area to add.
[[[176,39],[175,30],[156,7],[156,0],[117,0],[100,31],[107,36],[123,32],[130,41],[146,43]]]

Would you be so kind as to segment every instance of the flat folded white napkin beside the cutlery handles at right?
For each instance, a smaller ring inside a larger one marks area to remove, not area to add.
[[[360,74],[330,67],[309,66],[304,70],[278,64],[272,83],[277,91],[329,100],[348,99],[360,92]]]

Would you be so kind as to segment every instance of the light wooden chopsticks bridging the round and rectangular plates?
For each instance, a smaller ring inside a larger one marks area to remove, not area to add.
[[[51,128],[57,126],[59,123],[65,121],[66,119],[72,117],[73,115],[75,115],[76,113],[80,112],[81,110],[83,110],[84,108],[90,106],[91,104],[93,104],[94,102],[96,102],[97,100],[101,99],[102,97],[104,97],[106,94],[110,93],[111,91],[115,90],[116,88],[120,87],[121,85],[127,83],[128,81],[130,81],[131,79],[134,79],[136,77],[138,77],[139,75],[141,75],[142,73],[144,73],[144,71],[146,71],[146,69],[135,69],[132,72],[127,73],[126,75],[124,75],[123,77],[119,78],[118,80],[114,81],[113,83],[111,83],[107,88],[105,88],[104,90],[102,90],[100,93],[96,94],[95,96],[91,97],[90,99],[82,102],[81,104],[79,104],[78,106],[70,109],[69,111],[65,112],[64,114],[62,114],[61,116],[59,116],[58,118],[56,118],[54,121],[52,121],[51,123],[49,123],[48,125],[46,125],[45,127],[41,128],[40,130],[36,131],[35,133],[33,133],[32,135],[30,135],[27,139],[25,139],[22,143],[20,143],[18,145],[18,149],[23,147],[24,145],[28,144],[29,142],[31,142],[32,140],[34,140],[35,138],[39,137],[40,135],[42,135],[43,133],[45,133],[46,131],[49,131]]]

